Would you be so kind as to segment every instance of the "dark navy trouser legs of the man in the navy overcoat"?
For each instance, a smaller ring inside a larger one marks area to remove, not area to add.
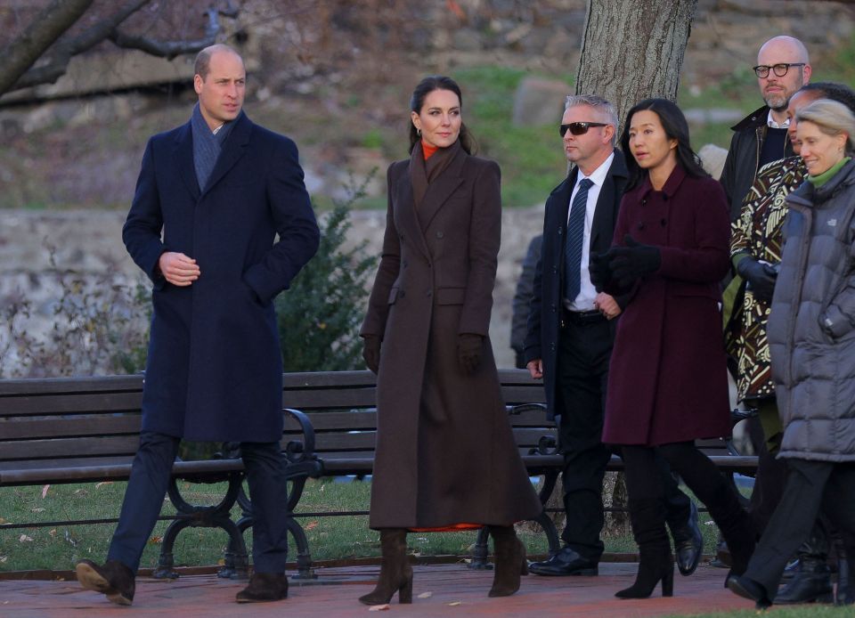
[[[179,438],[143,431],[134,456],[118,526],[108,560],[118,560],[134,573],[142,550],[158,521],[167,494]],[[279,443],[240,443],[252,500],[252,559],[258,573],[284,573],[288,527],[284,517],[288,484]]]

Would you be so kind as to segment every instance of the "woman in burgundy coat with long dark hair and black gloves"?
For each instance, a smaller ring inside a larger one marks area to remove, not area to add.
[[[640,553],[635,584],[617,596],[649,597],[660,580],[663,596],[671,596],[673,558],[654,448],[709,509],[735,573],[753,551],[736,492],[694,442],[730,432],[719,288],[729,268],[729,217],[724,191],[691,150],[674,103],[637,104],[621,142],[632,155],[630,181],[613,247],[591,266],[607,291],[632,294],[617,325],[603,428],[603,442],[623,450]]]

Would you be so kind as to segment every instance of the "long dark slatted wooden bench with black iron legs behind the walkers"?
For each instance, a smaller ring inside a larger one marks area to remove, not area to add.
[[[556,450],[556,429],[546,419],[542,382],[525,370],[500,370],[501,394],[507,406],[517,448],[532,476],[543,476],[540,498],[545,505],[563,465]],[[297,545],[299,577],[312,577],[312,558],[302,526],[295,517],[309,477],[367,476],[374,468],[377,432],[376,377],[370,371],[287,373],[283,378],[285,428],[282,450],[287,458],[289,531]],[[0,486],[126,481],[139,445],[142,376],[0,380]],[[175,537],[188,526],[220,527],[229,534],[224,577],[244,576],[247,549],[243,532],[252,524],[251,503],[242,490],[243,464],[237,444],[224,443],[216,459],[176,461],[168,495],[177,515],[164,535],[155,576],[175,577]],[[702,443],[717,466],[750,472],[756,458],[728,451],[724,441]],[[608,469],[623,468],[613,457]],[[228,482],[215,506],[184,500],[178,480]],[[237,503],[243,516],[232,521]],[[364,514],[364,512],[362,513]],[[331,512],[330,516],[354,515]],[[115,519],[99,520],[112,523]],[[550,553],[560,549],[558,532],[544,510],[542,525]],[[94,522],[47,522],[40,526]],[[17,527],[32,524],[17,524]],[[0,530],[10,526],[0,526]],[[487,567],[487,538],[482,530],[471,565]]]

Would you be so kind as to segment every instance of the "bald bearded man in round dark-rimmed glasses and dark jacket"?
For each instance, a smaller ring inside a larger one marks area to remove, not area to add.
[[[753,70],[765,104],[730,127],[735,133],[721,172],[731,221],[739,215],[757,170],[793,155],[786,134],[786,106],[790,97],[810,81],[808,50],[797,38],[772,37],[761,46]]]

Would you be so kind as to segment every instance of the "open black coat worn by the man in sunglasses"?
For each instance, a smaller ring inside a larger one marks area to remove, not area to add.
[[[548,415],[554,418],[557,380],[555,370],[558,356],[558,335],[561,324],[561,303],[564,297],[564,244],[570,196],[576,184],[578,169],[574,167],[566,180],[559,184],[546,200],[543,216],[543,248],[534,274],[534,289],[525,337],[525,362],[543,360],[543,383],[546,388]],[[599,191],[597,208],[590,230],[590,253],[602,253],[612,246],[617,212],[629,173],[623,153],[615,150],[615,159],[608,168],[606,182]],[[623,298],[616,298],[623,306]],[[560,413],[560,411],[558,411]]]

